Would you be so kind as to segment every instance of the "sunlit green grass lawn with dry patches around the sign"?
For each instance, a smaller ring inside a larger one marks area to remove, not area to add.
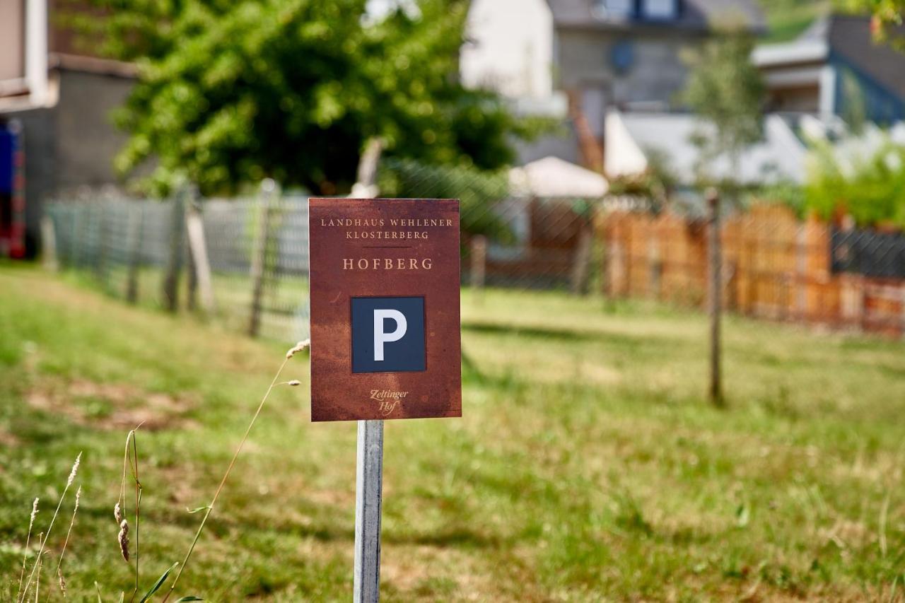
[[[905,345],[729,319],[720,411],[706,332],[643,304],[465,292],[462,419],[386,425],[384,599],[901,600]],[[83,451],[70,598],[96,580],[129,600],[112,510],[140,421],[148,589],[286,348],[0,266],[0,598],[33,497],[44,531]],[[297,357],[284,378],[307,374]],[[271,397],[177,594],[350,598],[356,426],[309,415],[304,387]],[[70,513],[71,494],[42,596]]]

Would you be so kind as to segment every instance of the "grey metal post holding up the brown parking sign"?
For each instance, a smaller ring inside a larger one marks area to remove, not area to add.
[[[384,422],[358,421],[355,493],[355,602],[380,600],[380,507]]]

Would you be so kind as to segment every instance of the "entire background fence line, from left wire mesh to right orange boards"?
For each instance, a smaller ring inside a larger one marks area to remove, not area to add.
[[[700,218],[639,209],[653,206],[643,199],[533,196],[504,174],[405,161],[382,162],[377,184],[382,196],[461,199],[466,286],[706,305]],[[62,267],[112,295],[204,311],[252,335],[309,333],[307,196],[205,199],[186,189],[166,200],[62,200],[48,215]],[[905,235],[803,222],[783,206],[729,215],[720,233],[726,310],[905,332]]]

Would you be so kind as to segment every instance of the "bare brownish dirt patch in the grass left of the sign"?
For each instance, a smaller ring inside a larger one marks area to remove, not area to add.
[[[45,412],[66,416],[74,423],[101,430],[147,431],[186,429],[196,423],[186,417],[191,400],[147,392],[134,386],[77,379],[43,384],[26,395],[28,404]]]

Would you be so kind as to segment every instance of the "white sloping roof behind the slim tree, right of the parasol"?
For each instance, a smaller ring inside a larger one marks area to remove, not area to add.
[[[645,168],[654,153],[683,185],[696,180],[700,150],[691,139],[712,131],[710,124],[686,113],[621,113],[607,115],[607,174],[629,175]],[[614,132],[616,136],[609,134]],[[621,161],[629,158],[628,161]],[[638,158],[643,158],[639,161]],[[728,157],[717,158],[708,174],[717,179],[733,176],[743,184],[805,178],[805,146],[778,115],[764,119],[764,138],[746,148],[738,174],[732,173]]]

